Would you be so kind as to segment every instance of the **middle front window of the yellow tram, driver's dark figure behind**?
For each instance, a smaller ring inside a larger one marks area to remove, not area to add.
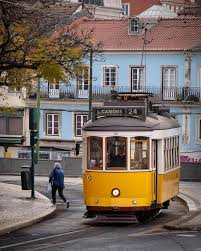
[[[126,143],[127,139],[124,137],[109,137],[106,139],[106,169],[127,168]]]

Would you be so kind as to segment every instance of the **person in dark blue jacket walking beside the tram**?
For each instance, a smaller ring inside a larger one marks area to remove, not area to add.
[[[56,204],[56,192],[58,190],[60,198],[66,203],[66,207],[69,207],[69,202],[63,195],[64,189],[64,170],[60,163],[54,164],[54,169],[49,175],[49,182],[52,183],[52,203]]]

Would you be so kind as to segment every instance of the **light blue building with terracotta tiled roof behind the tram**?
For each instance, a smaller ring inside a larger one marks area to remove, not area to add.
[[[84,20],[81,29],[94,30],[102,42],[93,56],[93,106],[102,106],[111,91],[153,93],[152,105],[165,106],[181,125],[181,161],[201,160],[201,18]],[[193,27],[196,27],[193,28]],[[41,158],[75,155],[81,128],[88,120],[89,62],[69,83],[41,83]],[[34,107],[25,100],[25,117]],[[28,123],[28,122],[27,122]],[[27,129],[25,130],[27,131]],[[29,136],[15,157],[29,157]],[[82,151],[81,151],[82,152]]]

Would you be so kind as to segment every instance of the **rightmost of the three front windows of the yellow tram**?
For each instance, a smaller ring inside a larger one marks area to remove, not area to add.
[[[144,170],[149,168],[148,139],[131,139],[131,170]]]

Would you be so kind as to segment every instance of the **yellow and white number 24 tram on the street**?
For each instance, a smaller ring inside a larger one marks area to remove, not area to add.
[[[150,110],[147,95],[141,105],[125,95],[95,108],[83,128],[85,216],[134,214],[143,222],[179,192],[179,124]]]

